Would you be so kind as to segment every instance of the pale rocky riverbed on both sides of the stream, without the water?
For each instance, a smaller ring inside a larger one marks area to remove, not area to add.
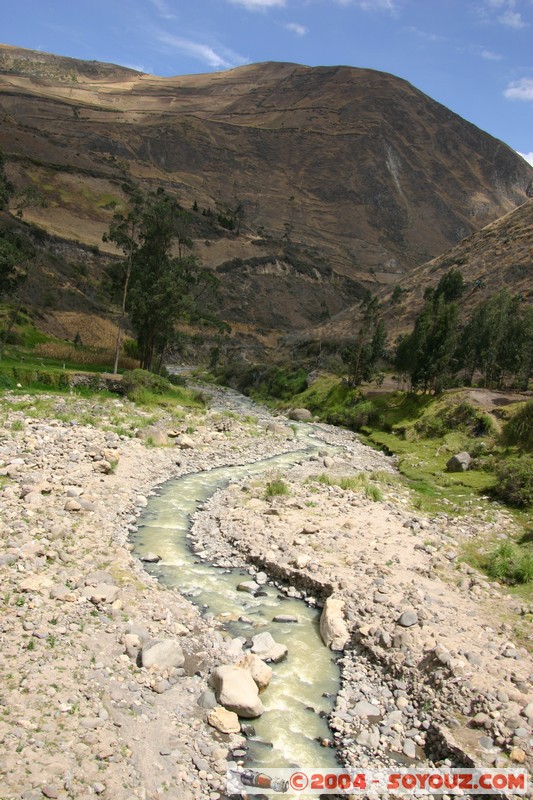
[[[295,449],[286,420],[216,402],[178,419],[125,400],[3,398],[3,800],[223,796],[245,739],[208,724],[210,677],[242,658],[239,643],[151,579],[128,543],[166,479]],[[390,459],[350,433],[316,432],[345,452],[290,470],[287,496],[265,499],[268,476],[217,493],[194,546],[339,601],[331,728],[345,763],[530,767],[532,661],[513,633],[530,609],[457,558],[465,539],[489,525],[504,534],[510,520],[422,517]],[[338,485],[362,472],[359,486]]]

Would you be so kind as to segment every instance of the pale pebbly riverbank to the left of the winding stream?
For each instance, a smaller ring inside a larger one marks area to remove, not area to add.
[[[228,742],[197,700],[226,645],[146,574],[128,529],[168,478],[285,452],[293,432],[189,413],[189,433],[154,447],[169,420],[128,401],[6,396],[2,412],[3,800],[217,800]],[[104,430],[132,421],[143,439]],[[152,640],[179,643],[183,666],[138,667],[136,645]]]

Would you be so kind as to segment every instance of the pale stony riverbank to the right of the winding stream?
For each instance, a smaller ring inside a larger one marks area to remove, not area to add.
[[[285,473],[283,496],[265,480],[219,492],[196,515],[195,546],[339,599],[349,642],[331,727],[344,763],[531,769],[532,609],[458,558],[475,537],[511,536],[512,517],[423,515],[390,459],[317,428],[346,453]]]

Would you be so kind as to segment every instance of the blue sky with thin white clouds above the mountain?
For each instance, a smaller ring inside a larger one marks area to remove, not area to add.
[[[370,67],[533,163],[533,0],[17,0],[0,41],[155,75]]]

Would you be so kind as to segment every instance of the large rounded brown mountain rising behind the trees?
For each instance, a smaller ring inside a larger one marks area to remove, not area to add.
[[[195,204],[195,252],[222,278],[223,315],[266,336],[403,283],[523,203],[533,180],[409,83],[351,67],[159,78],[0,46],[0,115],[11,177],[47,199],[27,220],[105,252],[127,165]],[[239,235],[217,223],[237,206]]]

